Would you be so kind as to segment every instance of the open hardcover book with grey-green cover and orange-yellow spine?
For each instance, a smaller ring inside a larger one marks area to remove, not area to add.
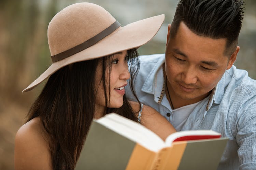
[[[217,169],[227,138],[212,130],[175,132],[163,141],[115,113],[93,120],[76,170]]]

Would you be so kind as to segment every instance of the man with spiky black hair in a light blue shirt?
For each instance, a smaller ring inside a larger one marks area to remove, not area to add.
[[[166,53],[141,56],[134,84],[141,103],[178,131],[212,129],[228,137],[218,167],[225,170],[256,169],[256,81],[233,66],[243,10],[241,0],[180,0]]]

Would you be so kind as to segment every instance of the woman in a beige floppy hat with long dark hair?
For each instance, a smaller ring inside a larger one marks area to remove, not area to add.
[[[162,22],[160,15],[120,27],[91,3],[73,4],[56,14],[48,27],[53,64],[23,90],[49,77],[16,134],[15,169],[74,169],[92,119],[111,112],[138,122],[142,115],[141,123],[162,138],[174,132],[154,109],[142,109],[124,95],[139,64],[135,49]]]

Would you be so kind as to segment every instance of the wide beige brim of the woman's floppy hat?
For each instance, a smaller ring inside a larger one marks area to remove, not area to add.
[[[123,50],[138,48],[150,41],[160,29],[165,15],[158,15],[119,27],[93,46],[63,60],[52,63],[35,81],[22,92],[35,88],[60,68],[80,61],[100,58]]]

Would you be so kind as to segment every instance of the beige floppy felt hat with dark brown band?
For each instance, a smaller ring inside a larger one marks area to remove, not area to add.
[[[53,63],[22,92],[27,92],[71,63],[138,48],[151,40],[164,14],[121,27],[101,6],[76,3],[57,13],[48,26],[48,43]]]

